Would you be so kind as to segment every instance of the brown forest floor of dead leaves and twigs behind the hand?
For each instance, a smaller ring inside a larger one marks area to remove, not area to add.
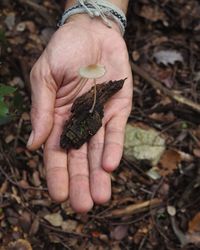
[[[26,149],[30,69],[62,10],[53,0],[1,0],[0,83],[17,88],[17,113],[0,125],[1,250],[200,249],[200,3],[130,2],[129,122],[165,138],[159,178],[148,161],[123,157],[111,201],[83,215],[50,199],[42,150]]]

